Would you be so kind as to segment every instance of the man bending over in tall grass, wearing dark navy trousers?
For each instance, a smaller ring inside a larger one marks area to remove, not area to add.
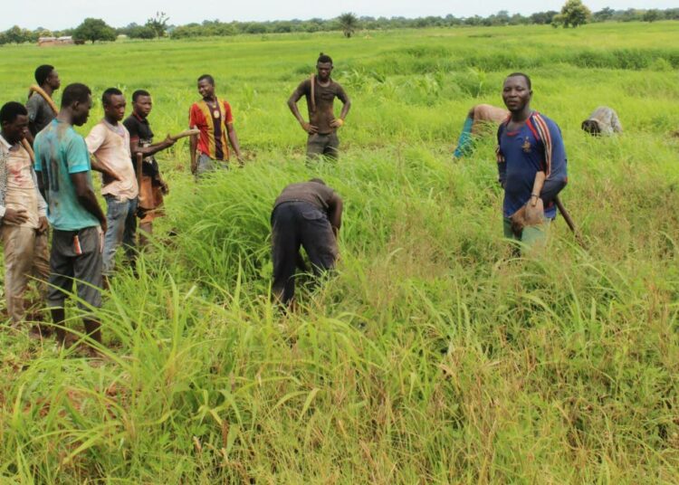
[[[286,186],[273,204],[273,295],[290,305],[294,273],[305,271],[300,246],[316,275],[335,267],[337,237],[342,222],[342,199],[320,178]]]

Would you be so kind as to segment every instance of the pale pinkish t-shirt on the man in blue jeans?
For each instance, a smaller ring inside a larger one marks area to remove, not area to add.
[[[102,119],[85,138],[87,149],[97,157],[101,165],[120,176],[109,184],[101,184],[102,195],[119,199],[133,199],[139,195],[137,176],[129,152],[129,132],[122,123],[114,127]]]

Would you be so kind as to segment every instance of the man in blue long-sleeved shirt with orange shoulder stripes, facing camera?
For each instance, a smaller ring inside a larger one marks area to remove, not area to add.
[[[559,126],[531,109],[531,78],[507,76],[502,100],[510,117],[498,128],[497,163],[504,189],[504,236],[530,248],[545,242],[556,217],[554,198],[568,182]]]

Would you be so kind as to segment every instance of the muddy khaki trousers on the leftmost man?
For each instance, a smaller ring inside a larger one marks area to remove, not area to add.
[[[47,233],[38,234],[31,228],[21,225],[3,224],[3,244],[5,245],[5,297],[7,311],[13,324],[24,319],[24,294],[31,277],[38,282],[41,300],[47,292],[47,279],[50,276],[50,255],[47,247]]]

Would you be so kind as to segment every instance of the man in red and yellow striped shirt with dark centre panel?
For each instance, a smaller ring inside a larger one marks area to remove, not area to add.
[[[241,159],[231,105],[215,95],[215,79],[209,74],[200,76],[198,92],[203,100],[191,105],[188,111],[189,126],[200,129],[199,135],[191,137],[191,173],[196,177],[228,168],[229,143],[235,157]]]

